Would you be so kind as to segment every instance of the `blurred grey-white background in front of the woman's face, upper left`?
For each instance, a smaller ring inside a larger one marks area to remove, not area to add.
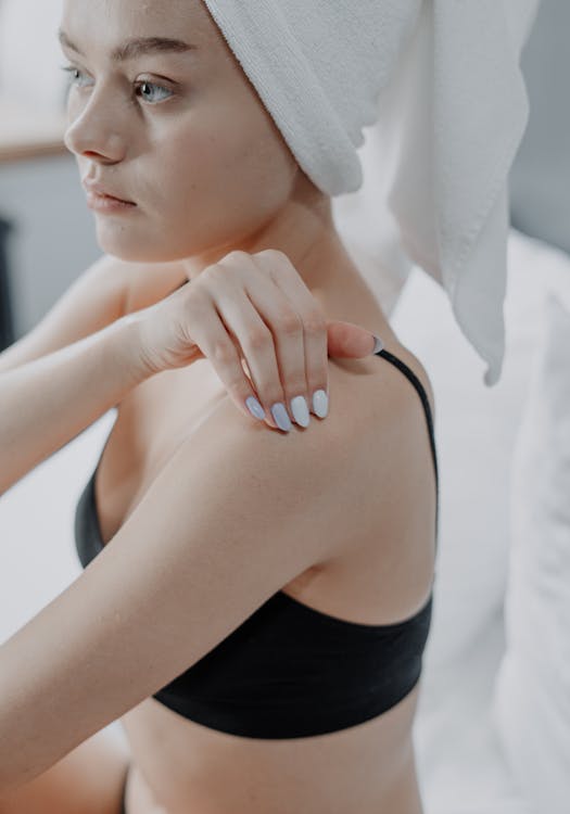
[[[61,7],[0,0],[2,346],[27,333],[101,255],[75,158],[62,141]]]

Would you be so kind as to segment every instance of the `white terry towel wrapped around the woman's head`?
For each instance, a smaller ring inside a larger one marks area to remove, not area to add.
[[[381,150],[405,260],[442,284],[495,384],[505,352],[507,176],[540,0],[204,0],[301,168],[334,196]],[[427,315],[429,318],[429,315]]]

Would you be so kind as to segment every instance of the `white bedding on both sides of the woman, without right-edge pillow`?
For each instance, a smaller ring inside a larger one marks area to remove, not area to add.
[[[491,714],[504,654],[508,582],[507,496],[529,386],[529,358],[546,280],[570,284],[570,258],[511,231],[503,379],[482,384],[483,363],[463,338],[446,295],[415,269],[392,323],[435,391],[440,549],[433,626],[414,739],[426,814],[543,814],[530,806]],[[0,497],[0,641],[81,572],[73,516],[114,421],[111,410]],[[124,734],[115,723],[113,737]]]

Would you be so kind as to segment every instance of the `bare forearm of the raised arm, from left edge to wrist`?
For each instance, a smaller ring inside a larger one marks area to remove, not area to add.
[[[0,373],[0,495],[149,378],[122,318]]]

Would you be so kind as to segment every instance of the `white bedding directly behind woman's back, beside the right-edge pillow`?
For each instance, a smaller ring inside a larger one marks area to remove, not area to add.
[[[505,654],[506,588],[517,568],[516,558],[509,561],[512,453],[532,392],[531,366],[541,351],[545,297],[556,290],[570,301],[570,258],[511,230],[508,262],[507,352],[503,378],[491,390],[480,385],[481,363],[459,334],[441,291],[420,270],[406,284],[392,317],[396,333],[421,359],[434,385],[441,468],[434,621],[414,732],[426,814],[553,811],[541,793],[545,765],[525,756],[524,742],[515,737],[522,727],[511,726],[511,737],[503,740],[493,702]],[[566,358],[570,376],[570,347]],[[568,573],[570,527],[567,538]],[[536,716],[533,723],[539,726]],[[545,739],[546,726],[543,720]],[[570,751],[568,728],[566,737]],[[570,773],[568,777],[570,783]],[[537,801],[544,804],[536,806]]]

